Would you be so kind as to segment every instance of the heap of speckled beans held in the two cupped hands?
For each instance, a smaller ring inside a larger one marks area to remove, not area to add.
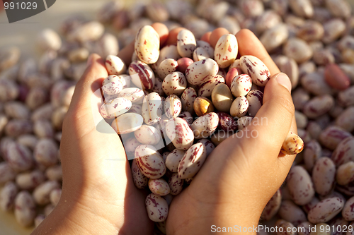
[[[145,25],[135,37],[128,68],[118,56],[107,56],[110,76],[103,80],[100,111],[120,134],[127,155],[134,153],[133,181],[137,188],[149,187],[147,215],[162,229],[173,195],[193,180],[215,145],[252,124],[270,72],[255,56],[236,59],[232,34],[220,37],[215,49],[186,29],[178,32],[177,45],[161,52],[159,41]],[[222,68],[229,68],[225,78]],[[303,146],[289,133],[281,151],[297,154]]]

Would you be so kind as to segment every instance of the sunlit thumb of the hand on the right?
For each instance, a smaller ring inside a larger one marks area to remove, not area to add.
[[[259,109],[254,121],[261,123],[255,126],[258,136],[265,141],[258,143],[264,150],[279,150],[292,127],[295,107],[291,97],[291,82],[285,73],[275,74],[265,85],[263,106]]]

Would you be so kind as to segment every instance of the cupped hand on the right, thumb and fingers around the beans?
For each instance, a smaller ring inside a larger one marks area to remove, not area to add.
[[[205,38],[210,37],[210,44],[215,45],[226,33],[217,29]],[[236,38],[239,54],[258,57],[272,75],[265,85],[263,106],[253,120],[259,125],[251,123],[207,157],[190,186],[173,198],[167,234],[209,234],[212,225],[257,226],[263,207],[285,180],[295,159],[295,155],[280,155],[287,133],[297,133],[290,80],[279,73],[251,31],[241,30]]]

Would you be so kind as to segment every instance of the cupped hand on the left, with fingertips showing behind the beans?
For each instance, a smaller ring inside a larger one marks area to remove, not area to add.
[[[166,26],[152,26],[161,36],[161,43],[166,41]],[[132,56],[130,48],[131,45],[119,55],[126,62]],[[135,187],[119,135],[99,112],[99,89],[107,76],[103,59],[91,55],[63,123],[62,197],[33,234],[49,230],[51,234],[153,232],[154,223],[148,218],[144,203],[147,194]]]

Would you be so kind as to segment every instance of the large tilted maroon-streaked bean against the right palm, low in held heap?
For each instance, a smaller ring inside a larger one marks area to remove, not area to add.
[[[196,143],[192,145],[181,159],[178,165],[178,176],[180,179],[187,179],[195,176],[207,157],[205,145]]]

